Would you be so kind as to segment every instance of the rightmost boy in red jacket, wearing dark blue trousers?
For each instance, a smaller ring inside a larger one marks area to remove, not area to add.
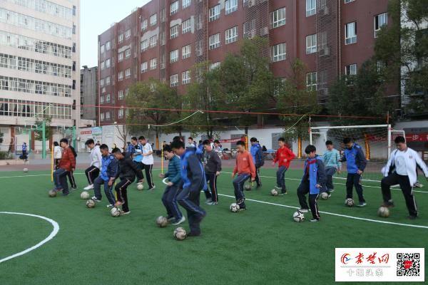
[[[275,155],[275,159],[272,162],[272,166],[275,166],[275,163],[278,162],[278,171],[277,171],[277,185],[275,188],[281,190],[281,194],[287,194],[287,187],[285,187],[285,172],[290,167],[291,160],[295,159],[295,154],[292,153],[290,148],[285,146],[285,138],[278,139],[278,146],[280,147]]]

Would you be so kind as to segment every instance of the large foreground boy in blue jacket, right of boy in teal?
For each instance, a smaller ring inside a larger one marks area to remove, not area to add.
[[[207,189],[203,165],[197,156],[195,147],[185,149],[184,142],[174,140],[171,143],[173,151],[180,155],[181,183],[182,187],[177,195],[178,204],[186,209],[190,233],[188,237],[200,236],[200,222],[206,215],[204,209],[199,206],[201,190]]]

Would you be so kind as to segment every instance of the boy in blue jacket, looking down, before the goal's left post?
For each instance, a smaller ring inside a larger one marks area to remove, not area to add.
[[[307,159],[303,168],[302,182],[297,188],[299,197],[299,212],[307,213],[309,208],[312,213],[310,222],[320,222],[320,212],[318,212],[317,199],[320,189],[325,185],[325,167],[320,156],[317,155],[317,149],[314,145],[308,145],[305,148]],[[307,207],[306,195],[309,193],[309,207]]]

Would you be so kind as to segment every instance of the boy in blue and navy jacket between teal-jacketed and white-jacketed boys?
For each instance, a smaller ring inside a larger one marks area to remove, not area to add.
[[[340,161],[347,162],[346,199],[352,199],[352,187],[355,186],[359,200],[356,206],[365,207],[367,203],[362,195],[361,177],[367,165],[367,160],[360,145],[357,145],[350,138],[344,138],[343,143],[345,144],[345,151]]]

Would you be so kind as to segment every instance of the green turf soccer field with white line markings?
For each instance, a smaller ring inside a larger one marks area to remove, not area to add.
[[[229,211],[233,185],[231,170],[224,171],[218,180],[219,204],[203,206],[208,212],[203,235],[183,242],[173,239],[174,226],[156,226],[156,217],[165,215],[160,178],[154,192],[128,187],[131,214],[114,218],[105,207],[106,197],[86,208],[80,198],[86,186],[81,170],[76,174],[79,190],[55,198],[47,194],[49,172],[31,167],[28,173],[0,172],[0,212],[41,215],[59,227],[49,242],[1,262],[0,284],[333,284],[335,247],[427,245],[426,186],[416,189],[419,219],[410,221],[399,190],[392,190],[396,207],[384,219],[377,217],[379,183],[364,183],[367,207],[350,208],[343,204],[344,181],[336,180],[342,184],[332,197],[319,201],[321,222],[297,223],[292,214],[298,207],[300,170],[287,172],[289,194],[278,197],[270,195],[275,170],[262,170],[262,189],[245,192],[248,209],[239,213]],[[17,214],[0,213],[0,221],[0,259],[33,247],[54,229],[44,219]],[[187,222],[183,227],[188,229]]]

